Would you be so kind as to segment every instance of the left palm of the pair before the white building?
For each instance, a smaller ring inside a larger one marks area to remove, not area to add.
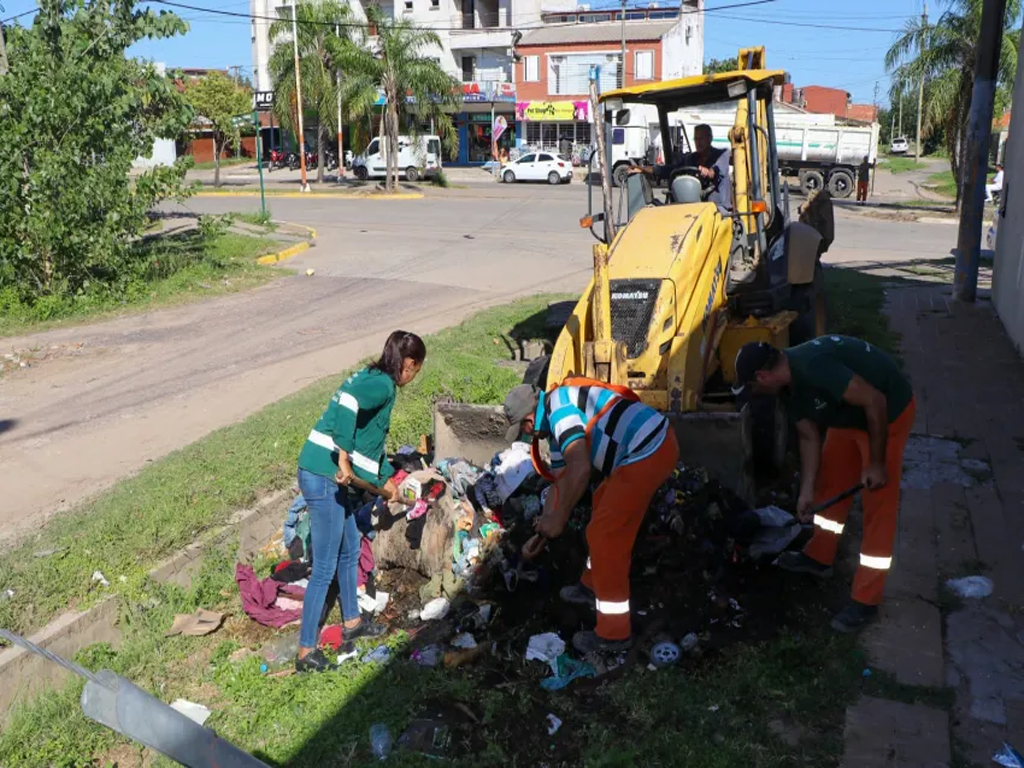
[[[273,51],[268,67],[273,80],[274,112],[282,125],[298,134],[295,106],[295,51],[292,45],[292,9],[279,9],[281,18],[270,25]],[[324,147],[329,131],[338,130],[338,62],[330,52],[353,44],[352,13],[337,0],[309,2],[295,6],[299,31],[299,75],[302,78],[303,106],[316,114],[316,181],[324,180]],[[336,27],[337,25],[337,27]],[[332,48],[333,46],[333,48]],[[305,114],[305,113],[303,113]],[[340,160],[339,160],[340,162]]]

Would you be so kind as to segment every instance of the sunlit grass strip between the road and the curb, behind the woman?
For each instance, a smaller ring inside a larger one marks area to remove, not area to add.
[[[510,356],[501,339],[536,317],[548,300],[532,298],[482,312],[430,337],[423,372],[401,391],[392,415],[392,447],[415,444],[432,431],[433,402],[441,395],[501,402],[520,381],[514,371],[495,365]],[[339,372],[316,382],[151,464],[6,553],[0,593],[13,590],[14,597],[0,601],[0,627],[32,630],[68,607],[116,591],[121,577],[136,583],[161,559],[222,525],[261,493],[294,482],[296,457],[309,425],[343,376]],[[68,551],[32,556],[55,548]],[[94,589],[96,569],[112,583],[110,590]]]

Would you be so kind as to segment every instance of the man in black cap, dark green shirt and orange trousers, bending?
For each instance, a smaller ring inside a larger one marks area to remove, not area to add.
[[[864,535],[850,603],[833,629],[854,632],[874,617],[892,566],[903,447],[913,425],[910,383],[888,354],[849,336],[822,336],[779,350],[764,342],[736,355],[736,391],[779,394],[800,438],[797,513],[863,483]],[[824,446],[821,431],[825,430]],[[779,556],[780,567],[831,575],[852,497],[813,515],[814,537],[803,552]]]

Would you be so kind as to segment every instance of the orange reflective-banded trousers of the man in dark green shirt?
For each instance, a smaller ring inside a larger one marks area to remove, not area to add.
[[[865,605],[878,605],[882,602],[886,577],[892,567],[903,449],[913,426],[916,410],[916,403],[911,399],[896,421],[889,425],[886,440],[888,482],[878,490],[861,492],[864,536],[860,543],[860,564],[853,579],[853,599]],[[856,485],[860,480],[861,470],[867,466],[868,458],[866,431],[829,429],[821,451],[814,504],[821,504]],[[831,565],[852,504],[853,499],[847,499],[814,516],[814,537],[804,547],[805,555],[823,565]]]

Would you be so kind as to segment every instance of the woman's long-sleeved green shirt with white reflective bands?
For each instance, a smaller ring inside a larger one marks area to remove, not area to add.
[[[391,377],[366,369],[352,374],[331,397],[299,454],[299,469],[330,477],[338,473],[338,449],[348,454],[356,477],[383,485],[394,469],[385,446],[396,387]]]

